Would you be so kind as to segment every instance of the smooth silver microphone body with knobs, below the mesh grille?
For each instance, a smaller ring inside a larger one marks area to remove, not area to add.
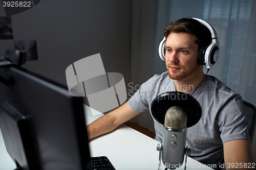
[[[172,129],[163,126],[162,161],[169,169],[183,164],[187,128]]]

